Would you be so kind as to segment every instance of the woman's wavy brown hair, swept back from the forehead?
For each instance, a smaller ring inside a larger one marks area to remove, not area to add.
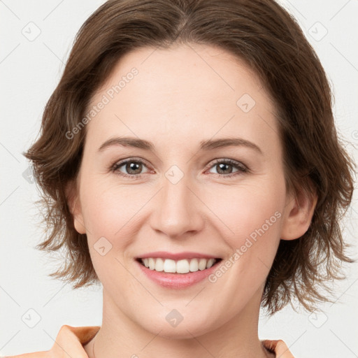
[[[319,285],[329,290],[325,280],[345,278],[338,275],[341,262],[355,262],[345,254],[349,245],[339,224],[352,199],[355,164],[337,136],[320,60],[294,17],[273,0],[110,0],[85,21],[45,106],[41,136],[24,154],[45,203],[48,237],[37,248],[64,249],[64,264],[50,275],[74,288],[99,282],[65,190],[80,168],[86,128],[71,139],[66,134],[124,54],[173,43],[227,50],[259,75],[274,99],[287,190],[315,193],[317,204],[301,238],[280,240],[262,306],[273,314],[295,296],[307,310],[315,309],[317,301],[329,301]]]

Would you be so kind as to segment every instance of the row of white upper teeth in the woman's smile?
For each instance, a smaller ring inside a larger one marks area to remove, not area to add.
[[[188,273],[210,268],[215,263],[215,259],[182,259],[174,261],[172,259],[161,259],[148,257],[141,259],[145,267],[150,270],[164,271],[169,273]]]

